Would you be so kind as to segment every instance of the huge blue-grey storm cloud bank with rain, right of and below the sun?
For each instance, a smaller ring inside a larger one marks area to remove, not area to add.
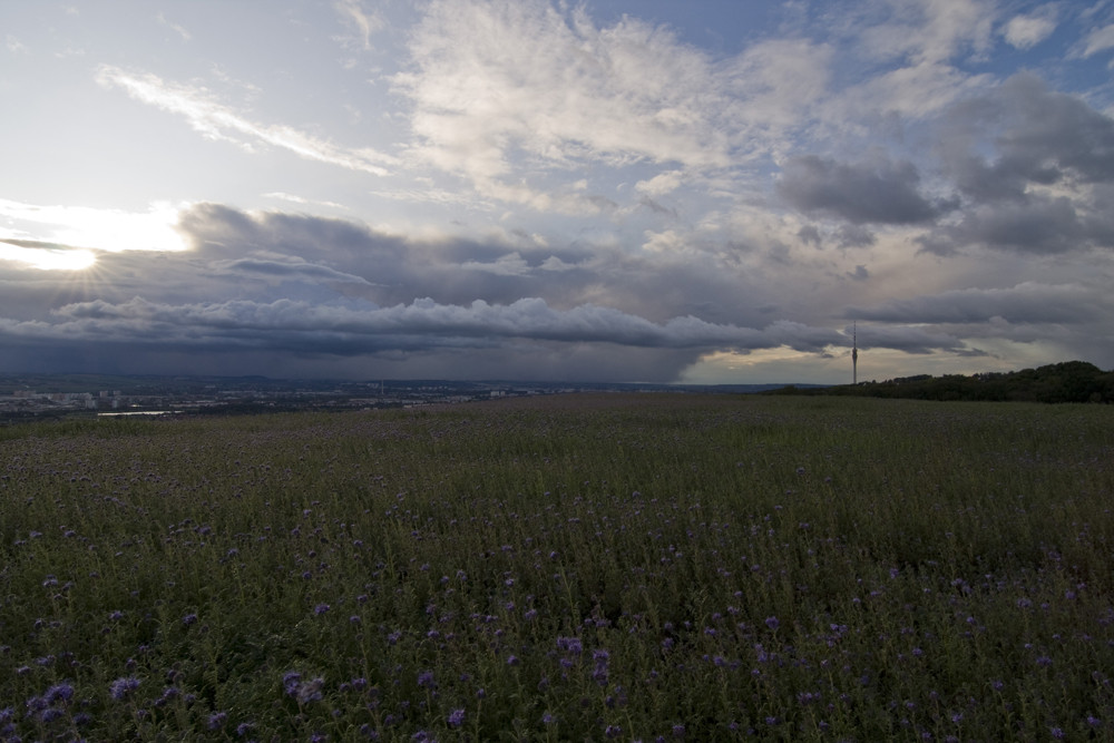
[[[820,352],[843,341],[801,323],[758,329],[678,311],[694,287],[709,297],[737,287],[680,265],[663,276],[618,248],[550,250],[514,233],[489,242],[416,239],[343,219],[214,204],[188,209],[179,229],[192,250],[101,254],[70,301],[30,316],[6,313],[0,338],[9,358],[69,348],[104,366],[113,356],[105,350],[115,349],[159,369],[158,354],[190,369],[237,352],[255,363],[286,356],[349,368],[360,359],[385,366],[405,359],[410,374],[421,359],[441,375],[498,369],[505,378],[537,375],[539,359],[548,359],[541,377],[550,379],[615,370],[612,379],[662,381],[715,350]],[[582,263],[593,264],[590,274]],[[641,313],[641,303],[659,316]],[[509,365],[492,366],[495,358]],[[636,358],[658,364],[638,369]]]

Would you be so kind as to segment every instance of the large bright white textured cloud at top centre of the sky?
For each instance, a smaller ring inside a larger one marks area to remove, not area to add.
[[[494,198],[579,211],[583,198],[511,174],[586,162],[702,170],[765,154],[823,95],[831,50],[772,40],[715,60],[632,18],[600,28],[536,0],[439,0],[411,53],[394,81],[413,105],[416,154]]]

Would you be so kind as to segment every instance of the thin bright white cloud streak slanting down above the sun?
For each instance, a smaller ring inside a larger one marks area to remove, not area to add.
[[[371,148],[349,149],[290,126],[256,124],[214,100],[204,88],[166,82],[155,75],[130,74],[104,65],[97,72],[97,82],[124,88],[141,102],[184,116],[194,130],[208,139],[231,141],[247,149],[252,149],[253,143],[262,143],[306,159],[379,176],[388,175],[384,165],[395,163],[390,155]]]

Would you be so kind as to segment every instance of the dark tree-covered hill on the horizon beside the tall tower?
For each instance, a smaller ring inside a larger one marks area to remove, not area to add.
[[[861,382],[825,388],[783,387],[763,394],[839,394],[913,400],[986,400],[1014,402],[1114,402],[1114,372],[1085,361],[986,372],[965,377],[946,374],[900,377],[885,382]]]

